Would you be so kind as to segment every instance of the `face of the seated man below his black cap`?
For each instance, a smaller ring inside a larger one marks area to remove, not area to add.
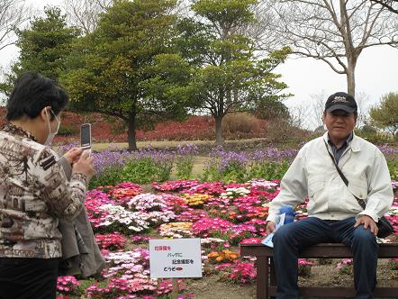
[[[343,110],[323,113],[323,122],[329,131],[331,140],[342,140],[348,137],[357,124],[357,115]]]

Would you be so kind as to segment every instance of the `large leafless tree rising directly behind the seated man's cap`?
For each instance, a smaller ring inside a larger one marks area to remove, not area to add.
[[[398,46],[398,18],[368,0],[263,0],[272,4],[274,22],[267,37],[288,44],[301,57],[321,59],[346,75],[355,95],[357,59],[369,47]],[[267,45],[267,43],[266,43]]]

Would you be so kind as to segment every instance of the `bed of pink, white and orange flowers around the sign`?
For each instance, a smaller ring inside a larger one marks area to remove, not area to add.
[[[201,238],[204,275],[221,273],[223,279],[238,284],[255,281],[254,260],[240,257],[237,246],[240,242],[258,242],[266,234],[268,204],[279,192],[279,181],[222,184],[180,180],[152,186],[156,194],[143,193],[139,185],[131,183],[87,192],[87,214],[107,267],[98,280],[59,277],[60,295],[167,298],[172,291],[171,281],[149,277],[151,238]],[[296,219],[306,217],[306,203],[295,211]],[[398,196],[387,217],[395,233],[385,241],[398,240]],[[310,275],[312,265],[311,260],[299,260],[303,276]],[[396,261],[392,260],[391,265],[395,268]],[[349,263],[342,260],[337,267],[347,268],[344,273],[348,273]],[[179,284],[179,298],[193,296],[182,281]]]

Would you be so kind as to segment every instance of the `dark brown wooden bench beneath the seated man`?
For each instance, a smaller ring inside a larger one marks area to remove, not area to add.
[[[379,258],[398,258],[398,243],[379,244]],[[258,244],[240,244],[241,257],[256,257],[257,299],[276,296],[273,249]],[[301,252],[299,258],[352,258],[351,250],[341,243],[321,243]],[[353,287],[299,287],[303,297],[355,297]],[[375,297],[398,298],[398,287],[376,287]]]

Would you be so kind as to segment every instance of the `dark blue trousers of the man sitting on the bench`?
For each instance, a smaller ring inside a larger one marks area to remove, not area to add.
[[[357,299],[374,298],[378,245],[375,235],[363,225],[354,228],[355,218],[325,221],[308,217],[281,226],[275,233],[274,262],[278,299],[298,298],[298,253],[322,242],[346,244],[354,257],[354,283]]]

